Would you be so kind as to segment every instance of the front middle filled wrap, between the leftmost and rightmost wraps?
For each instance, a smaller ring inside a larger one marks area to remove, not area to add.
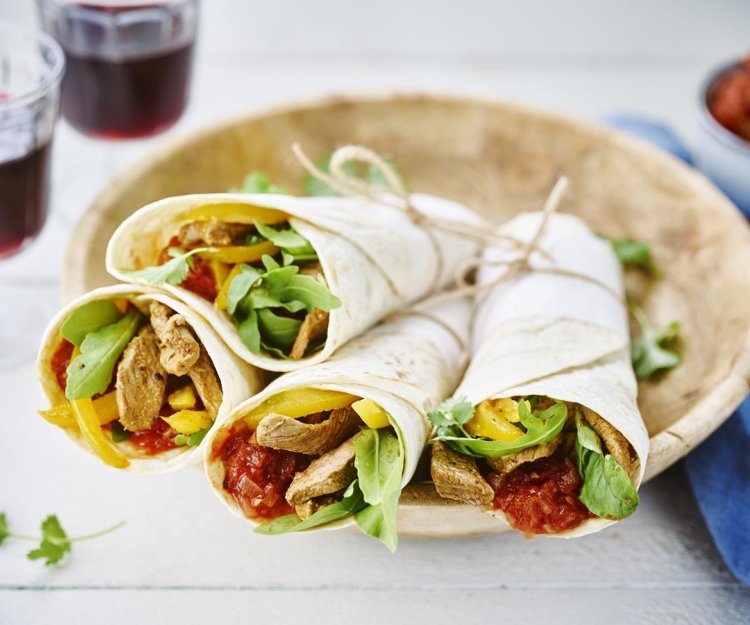
[[[405,314],[272,382],[212,433],[216,494],[259,533],[356,523],[395,549],[401,489],[427,411],[463,373],[470,314],[467,300]]]

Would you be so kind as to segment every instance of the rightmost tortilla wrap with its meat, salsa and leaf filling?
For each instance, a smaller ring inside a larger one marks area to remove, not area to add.
[[[502,232],[528,243],[541,220]],[[580,536],[635,510],[648,453],[622,270],[570,215],[551,215],[530,271],[501,279],[518,258],[485,252],[471,364],[430,415],[431,473],[442,496],[527,535]]]

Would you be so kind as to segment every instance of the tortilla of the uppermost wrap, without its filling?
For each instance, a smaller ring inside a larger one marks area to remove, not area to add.
[[[413,195],[422,213],[474,223],[466,207],[428,195]],[[243,360],[270,371],[293,371],[327,360],[339,347],[389,313],[423,299],[446,286],[456,268],[476,255],[477,246],[465,238],[416,225],[400,210],[352,198],[298,198],[271,194],[210,194],[167,198],[126,219],[107,248],[107,270],[125,281],[142,282],[131,271],[159,264],[160,253],[181,226],[213,207],[234,207],[222,219],[252,224],[288,223],[314,249],[324,282],[340,306],[329,311],[327,334],[319,349],[295,359],[279,357],[261,345],[243,342],[238,325],[210,299],[174,286],[161,285],[209,320],[229,347]],[[270,209],[270,210],[269,210]],[[197,211],[197,212],[196,212]],[[278,256],[277,256],[278,258]],[[230,274],[231,277],[231,274]],[[182,283],[184,284],[184,283]]]

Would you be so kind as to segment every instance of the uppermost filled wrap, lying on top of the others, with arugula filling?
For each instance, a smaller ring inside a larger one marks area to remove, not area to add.
[[[416,209],[474,223],[427,195]],[[271,371],[323,362],[389,313],[447,285],[475,243],[379,202],[282,194],[173,197],[126,219],[107,249],[114,277],[187,302],[241,358]]]

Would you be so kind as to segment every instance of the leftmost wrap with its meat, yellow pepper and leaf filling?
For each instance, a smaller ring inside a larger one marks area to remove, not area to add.
[[[141,473],[199,463],[214,422],[264,386],[183,302],[133,285],[60,311],[37,373],[48,422],[106,464]]]

